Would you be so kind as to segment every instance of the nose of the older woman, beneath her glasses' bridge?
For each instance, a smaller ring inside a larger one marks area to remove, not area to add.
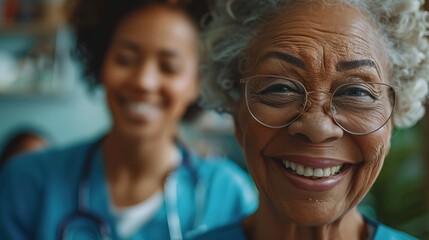
[[[290,135],[311,143],[325,143],[343,136],[344,131],[329,112],[330,94],[310,92],[301,116],[288,126]]]

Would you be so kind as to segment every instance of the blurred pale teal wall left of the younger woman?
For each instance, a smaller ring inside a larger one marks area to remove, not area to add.
[[[41,92],[2,93],[0,91],[0,150],[11,130],[30,126],[46,132],[56,145],[100,135],[110,125],[101,91],[90,93],[80,80],[78,64],[71,59],[73,38],[67,29],[55,37],[54,79],[57,85],[48,94]],[[10,35],[10,34],[9,34]],[[18,35],[5,43],[0,36],[0,51],[18,48],[31,35]],[[1,73],[0,73],[1,74]]]

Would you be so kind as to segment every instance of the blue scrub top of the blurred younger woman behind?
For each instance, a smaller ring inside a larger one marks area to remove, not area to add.
[[[80,175],[95,141],[64,149],[25,154],[10,160],[0,172],[0,239],[56,239],[59,224],[76,211]],[[201,221],[195,225],[195,180],[189,166],[179,166],[177,210],[183,235],[235,222],[257,206],[246,173],[228,160],[190,156],[190,167],[204,185]],[[107,223],[119,239],[110,208],[103,161],[96,154],[88,177],[86,208]],[[163,205],[130,239],[170,239]]]

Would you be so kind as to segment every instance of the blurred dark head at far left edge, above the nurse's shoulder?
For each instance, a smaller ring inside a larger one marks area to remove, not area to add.
[[[28,127],[20,127],[18,130],[13,130],[9,136],[6,137],[3,147],[1,148],[0,169],[6,161],[15,155],[41,150],[48,146],[48,137],[39,130]]]

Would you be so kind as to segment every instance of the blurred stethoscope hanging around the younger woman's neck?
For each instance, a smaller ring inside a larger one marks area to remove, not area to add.
[[[95,144],[90,146],[88,152],[86,154],[84,164],[82,167],[82,172],[79,178],[78,184],[78,192],[77,192],[77,209],[71,214],[67,215],[60,223],[58,228],[57,239],[81,239],[80,236],[73,231],[70,232],[69,226],[75,220],[80,219],[82,222],[85,222],[86,227],[85,234],[89,237],[88,239],[102,239],[102,240],[110,240],[112,239],[110,229],[108,224],[99,216],[91,213],[89,209],[85,206],[85,200],[88,199],[89,195],[89,174],[91,170],[91,163],[95,158],[95,153],[100,146],[101,139],[97,141]],[[190,152],[185,148],[183,144],[176,143],[182,153],[182,162],[181,165],[186,166],[193,178],[193,182],[195,184],[195,203],[196,203],[196,211],[194,217],[194,228],[198,226],[202,222],[203,215],[203,203],[204,203],[204,185],[199,181],[196,170],[191,165],[191,156]],[[179,218],[179,212],[177,207],[177,176],[173,174],[169,174],[164,182],[164,204],[166,208],[167,215],[167,225],[168,231],[170,234],[171,240],[182,240],[183,234],[181,230],[181,223]],[[88,228],[89,225],[92,225],[92,228]],[[77,230],[76,230],[77,231]],[[83,231],[83,230],[80,230]],[[68,238],[67,236],[70,236]],[[76,238],[74,238],[76,236]]]

